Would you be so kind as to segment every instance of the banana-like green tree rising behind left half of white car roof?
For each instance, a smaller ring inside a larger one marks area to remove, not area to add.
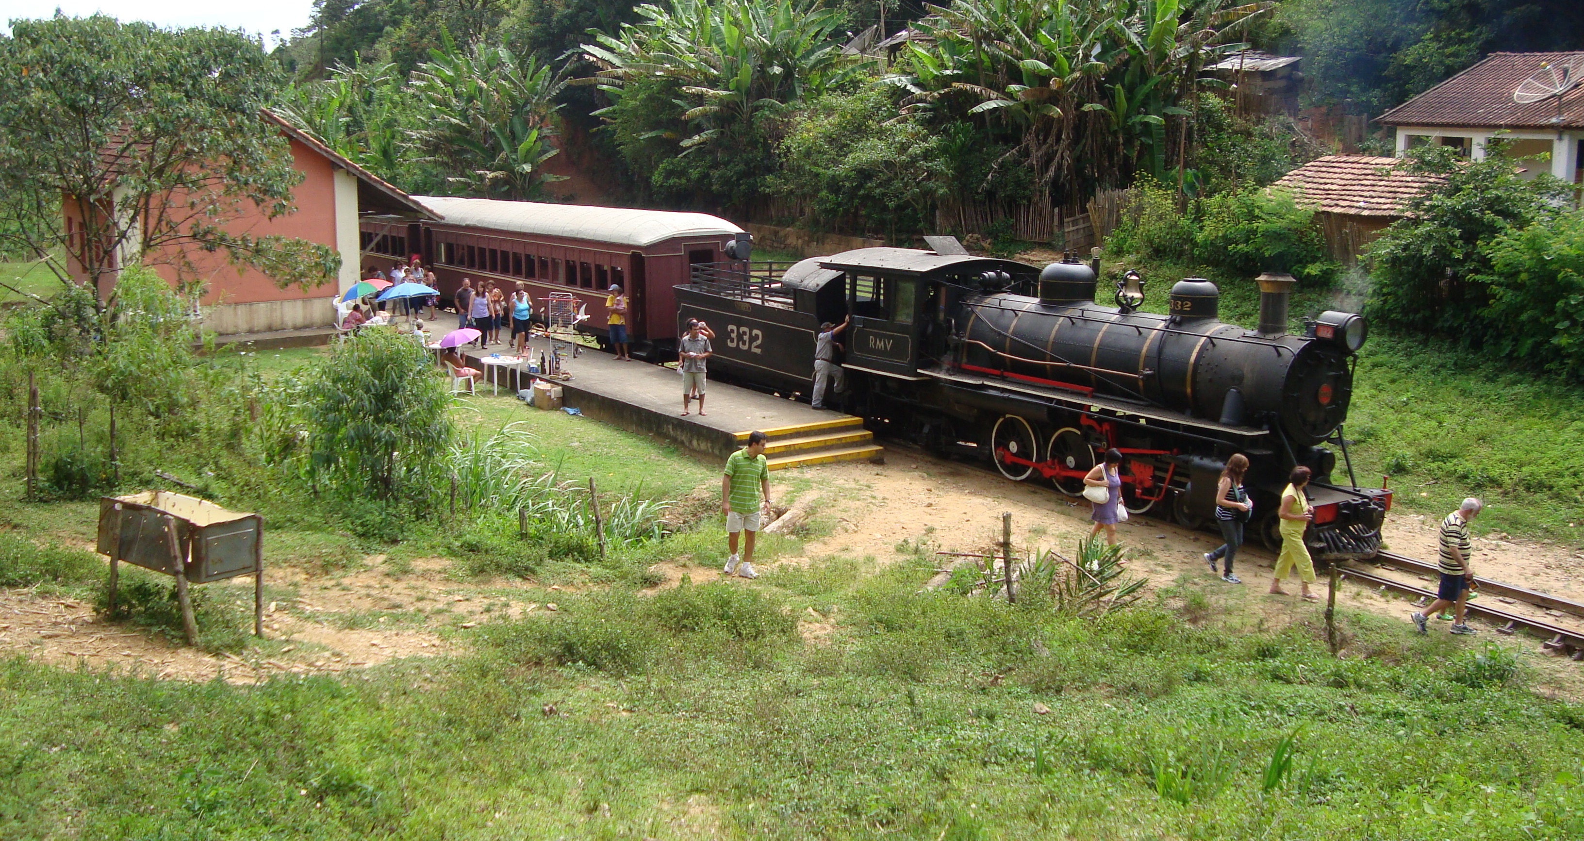
[[[458,49],[450,38],[413,73],[420,111],[418,147],[453,190],[472,195],[539,198],[562,176],[543,165],[554,147],[556,97],[567,87],[537,57],[518,60],[505,48]]]

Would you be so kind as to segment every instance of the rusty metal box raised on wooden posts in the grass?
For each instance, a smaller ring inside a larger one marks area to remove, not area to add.
[[[263,518],[228,512],[214,502],[146,491],[100,497],[98,551],[144,569],[176,573],[166,515],[176,518],[187,580],[201,584],[260,572]]]

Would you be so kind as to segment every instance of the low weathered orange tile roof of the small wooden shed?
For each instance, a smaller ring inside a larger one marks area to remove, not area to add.
[[[1293,190],[1299,204],[1346,215],[1400,217],[1408,200],[1440,184],[1411,174],[1402,158],[1326,155],[1281,176],[1272,187]]]

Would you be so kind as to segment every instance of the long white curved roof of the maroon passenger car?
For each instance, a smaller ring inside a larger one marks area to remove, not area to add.
[[[527,234],[646,247],[675,238],[730,236],[743,228],[710,214],[543,204],[494,198],[412,196],[444,222]]]

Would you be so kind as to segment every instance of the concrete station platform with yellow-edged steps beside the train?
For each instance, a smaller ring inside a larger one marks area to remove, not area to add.
[[[508,355],[510,348],[489,345],[486,352],[464,352],[474,367],[494,377],[496,372],[482,364],[482,356]],[[548,339],[529,342],[529,353],[534,360],[540,353],[548,358]],[[863,420],[841,412],[711,382],[705,399],[708,415],[699,415],[697,402],[683,415],[683,382],[675,369],[642,361],[618,363],[610,353],[588,347],[565,361],[565,372],[572,374],[570,380],[551,380],[562,388],[564,405],[623,429],[662,436],[700,453],[725,458],[743,447],[748,432],[759,429],[770,436],[765,455],[771,470],[884,458],[874,436],[863,429]],[[502,391],[529,388],[534,379],[526,374],[526,366],[523,372],[499,369]],[[480,382],[477,388],[489,390],[491,385]]]

